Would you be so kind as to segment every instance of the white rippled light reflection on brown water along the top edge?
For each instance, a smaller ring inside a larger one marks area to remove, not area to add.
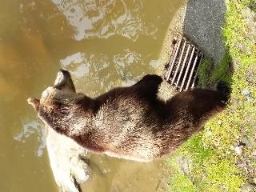
[[[52,0],[74,26],[76,40],[109,38],[114,34],[136,41],[140,34],[154,35],[157,28],[145,25],[145,1],[130,0]]]

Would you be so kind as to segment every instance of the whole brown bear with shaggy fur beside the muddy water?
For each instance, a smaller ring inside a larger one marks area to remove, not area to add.
[[[86,150],[147,162],[170,154],[226,106],[226,86],[157,97],[162,78],[148,74],[133,86],[89,98],[75,91],[70,73],[59,70],[40,100],[28,98],[39,118]]]

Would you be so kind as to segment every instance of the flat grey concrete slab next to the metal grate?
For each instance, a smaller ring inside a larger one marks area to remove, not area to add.
[[[215,64],[222,60],[226,50],[222,36],[225,13],[222,0],[190,0],[186,6],[183,33]]]

